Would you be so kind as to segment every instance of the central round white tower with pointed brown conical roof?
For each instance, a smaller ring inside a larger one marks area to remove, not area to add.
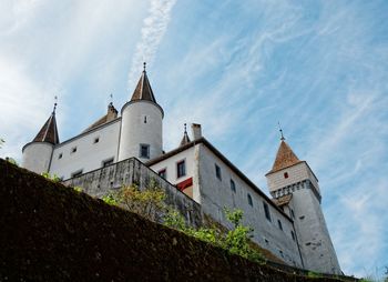
[[[131,101],[121,109],[119,161],[135,157],[141,161],[163,152],[163,109],[156,103],[145,71],[137,82]]]

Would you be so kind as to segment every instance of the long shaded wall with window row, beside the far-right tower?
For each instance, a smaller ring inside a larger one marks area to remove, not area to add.
[[[297,242],[292,238],[294,226],[288,216],[279,212],[269,199],[265,199],[254,188],[241,179],[226,163],[218,159],[204,144],[200,147],[200,193],[203,211],[211,214],[216,221],[231,226],[223,209],[236,208],[244,211],[244,222],[254,231],[253,240],[269,250],[290,265],[302,266]],[[222,172],[222,180],[216,178],[215,163]],[[236,192],[231,189],[231,179],[234,180]],[[253,205],[249,205],[247,194],[251,194]],[[269,208],[272,221],[265,216],[263,202]],[[278,226],[282,222],[283,230]]]

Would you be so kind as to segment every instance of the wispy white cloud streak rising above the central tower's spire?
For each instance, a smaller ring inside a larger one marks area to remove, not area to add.
[[[142,39],[136,44],[129,73],[129,89],[134,88],[135,80],[142,70],[142,63],[152,63],[157,47],[167,30],[172,9],[176,0],[151,0],[149,16],[143,21]]]

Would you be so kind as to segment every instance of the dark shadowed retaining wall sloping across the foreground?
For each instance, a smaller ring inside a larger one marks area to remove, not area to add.
[[[0,159],[0,281],[337,281],[292,275]]]

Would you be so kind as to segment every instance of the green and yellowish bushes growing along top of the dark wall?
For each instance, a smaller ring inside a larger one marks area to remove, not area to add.
[[[164,202],[165,198],[165,193],[154,182],[151,182],[144,191],[141,191],[137,185],[123,187],[118,192],[103,197],[102,200],[223,248],[233,254],[264,263],[262,253],[249,244],[254,230],[242,223],[244,216],[242,210],[224,210],[227,220],[233,224],[233,229],[226,232],[215,225],[194,229],[185,223],[183,215],[177,210]]]

